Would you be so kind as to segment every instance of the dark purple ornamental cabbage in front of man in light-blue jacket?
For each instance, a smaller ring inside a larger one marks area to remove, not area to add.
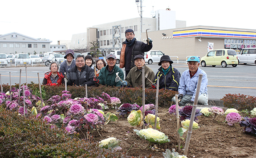
[[[184,119],[190,119],[191,118],[191,112],[192,112],[192,108],[193,106],[184,106],[182,109],[179,109],[179,115],[180,120],[184,120]],[[195,120],[198,120],[197,116],[202,115],[202,113],[200,112],[200,109],[196,109],[195,110]]]

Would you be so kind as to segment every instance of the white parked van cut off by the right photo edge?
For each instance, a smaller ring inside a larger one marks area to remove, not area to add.
[[[238,63],[256,64],[256,48],[244,48],[237,54]]]

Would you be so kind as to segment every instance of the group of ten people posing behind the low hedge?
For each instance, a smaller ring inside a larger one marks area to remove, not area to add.
[[[160,68],[154,74],[154,71],[145,65],[144,52],[151,50],[153,47],[152,40],[147,39],[147,43],[137,41],[132,29],[125,31],[126,41],[122,43],[120,55],[120,66],[116,65],[116,56],[108,54],[106,62],[103,59],[96,61],[93,66],[91,56],[77,55],[74,59],[73,50],[67,50],[65,53],[66,60],[60,65],[52,62],[49,66],[50,72],[45,73],[43,80],[44,85],[61,85],[67,81],[67,85],[77,86],[127,86],[138,87],[142,85],[142,67],[144,67],[145,88],[168,89],[178,91],[179,105],[193,105],[195,100],[195,91],[198,83],[199,74],[203,74],[201,88],[199,92],[198,103],[208,104],[207,94],[207,74],[199,68],[199,58],[191,56],[187,60],[188,70],[180,75],[179,71],[172,67],[171,58],[163,55],[158,63]],[[126,77],[121,68],[125,68]],[[117,76],[120,77],[117,79]],[[159,77],[159,78],[158,78]],[[159,84],[157,85],[157,80]],[[173,98],[174,100],[174,98]]]

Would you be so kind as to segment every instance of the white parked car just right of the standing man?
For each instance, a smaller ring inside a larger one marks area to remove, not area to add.
[[[160,58],[163,55],[164,53],[160,50],[150,50],[144,54],[145,62],[148,64],[152,64],[153,62],[160,62]]]

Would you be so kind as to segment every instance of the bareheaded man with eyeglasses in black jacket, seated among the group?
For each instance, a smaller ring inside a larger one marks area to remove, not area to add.
[[[69,69],[67,78],[67,85],[94,85],[93,81],[94,71],[89,66],[85,65],[85,58],[83,55],[77,55],[76,58],[76,66]]]

